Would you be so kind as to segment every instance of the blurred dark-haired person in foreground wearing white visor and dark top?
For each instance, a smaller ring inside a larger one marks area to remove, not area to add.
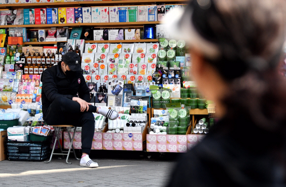
[[[192,0],[167,18],[220,118],[168,187],[286,186],[285,10],[285,0]]]

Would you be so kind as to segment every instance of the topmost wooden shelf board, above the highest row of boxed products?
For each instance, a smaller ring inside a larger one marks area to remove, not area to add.
[[[154,3],[186,4],[186,0],[97,0],[97,1],[73,1],[73,2],[39,2],[39,3],[14,3],[0,4],[0,9],[25,8],[52,8],[52,7],[90,7],[90,6],[117,6],[117,5],[147,5]]]

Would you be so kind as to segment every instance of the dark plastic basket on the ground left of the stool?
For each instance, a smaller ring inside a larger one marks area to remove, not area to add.
[[[5,140],[7,156],[11,161],[43,161],[51,154],[51,139],[42,142]]]

